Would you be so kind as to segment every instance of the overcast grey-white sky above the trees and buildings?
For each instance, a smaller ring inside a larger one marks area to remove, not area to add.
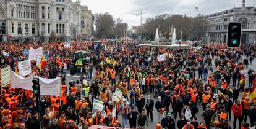
[[[75,1],[75,0],[74,0]],[[245,6],[253,6],[256,0],[245,0]],[[128,23],[129,28],[136,25],[136,17],[132,15],[142,11],[142,23],[147,18],[166,14],[211,14],[222,10],[241,7],[242,0],[81,0],[82,5],[87,5],[93,14],[109,12],[114,18],[122,18]],[[256,6],[256,5],[255,5]],[[199,10],[195,10],[198,7]],[[140,17],[138,17],[140,25]]]

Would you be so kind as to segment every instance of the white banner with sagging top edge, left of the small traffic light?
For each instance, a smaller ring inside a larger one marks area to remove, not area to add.
[[[24,78],[24,77],[19,76],[18,74],[16,74],[15,72],[12,71],[12,73],[11,73],[11,78],[12,78],[11,86],[12,86],[12,88],[22,88],[22,89],[26,89],[26,90],[33,90],[33,88],[32,88],[32,86],[33,86],[33,83],[32,83],[33,77],[34,77],[34,74],[31,74],[27,78]]]

